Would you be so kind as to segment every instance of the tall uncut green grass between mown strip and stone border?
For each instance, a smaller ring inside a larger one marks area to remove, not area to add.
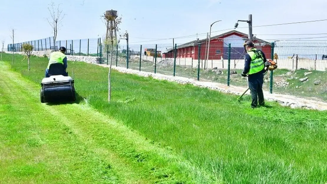
[[[14,70],[41,81],[46,59],[33,58],[31,72],[17,62]],[[92,107],[172,147],[218,180],[327,181],[325,112],[277,104],[252,110],[248,101],[236,103],[237,96],[115,71],[108,104],[106,68],[69,62],[72,70],[77,92]]]

